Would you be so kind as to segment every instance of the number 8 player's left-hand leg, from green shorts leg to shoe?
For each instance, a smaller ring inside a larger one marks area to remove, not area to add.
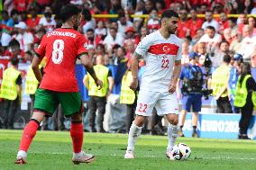
[[[43,89],[37,90],[32,119],[28,122],[23,130],[23,137],[21,139],[15,164],[25,164],[28,148],[32,143],[32,139],[34,138],[41,121],[43,120],[45,114],[53,114],[58,103],[59,102],[56,100],[55,95],[50,91]]]

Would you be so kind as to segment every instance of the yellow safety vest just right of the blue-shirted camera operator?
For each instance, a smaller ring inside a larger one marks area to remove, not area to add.
[[[212,89],[213,89],[213,95],[216,96],[219,94],[226,84],[226,79],[228,78],[228,74],[230,72],[230,67],[227,66],[221,66],[218,67],[212,76]],[[227,96],[227,90],[224,92],[224,94],[221,95],[221,97]]]

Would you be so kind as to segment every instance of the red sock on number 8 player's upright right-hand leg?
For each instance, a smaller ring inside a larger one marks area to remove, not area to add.
[[[84,139],[83,123],[72,123],[70,128],[70,136],[73,142],[74,153],[79,153],[82,150]]]

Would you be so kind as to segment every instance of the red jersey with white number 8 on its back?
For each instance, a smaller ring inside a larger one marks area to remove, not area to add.
[[[76,59],[87,53],[87,39],[73,29],[56,29],[45,34],[36,53],[46,57],[40,88],[57,92],[78,92]]]

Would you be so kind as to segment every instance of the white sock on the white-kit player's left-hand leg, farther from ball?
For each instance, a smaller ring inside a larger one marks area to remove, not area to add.
[[[129,130],[127,150],[134,150],[135,142],[139,138],[141,133],[142,133],[142,127],[138,127],[137,125],[135,125],[133,121],[133,124]]]

